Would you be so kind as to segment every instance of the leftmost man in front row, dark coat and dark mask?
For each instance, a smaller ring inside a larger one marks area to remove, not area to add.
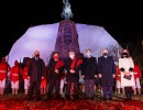
[[[34,52],[34,57],[30,59],[28,66],[28,76],[30,78],[29,98],[32,100],[35,90],[35,98],[40,100],[40,85],[44,78],[44,62],[40,58],[40,52]]]

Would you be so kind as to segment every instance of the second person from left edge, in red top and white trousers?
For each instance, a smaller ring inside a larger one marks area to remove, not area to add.
[[[15,61],[14,66],[11,68],[11,73],[10,73],[12,95],[18,95],[20,74],[22,73],[21,73],[21,68],[19,67],[19,62]]]

